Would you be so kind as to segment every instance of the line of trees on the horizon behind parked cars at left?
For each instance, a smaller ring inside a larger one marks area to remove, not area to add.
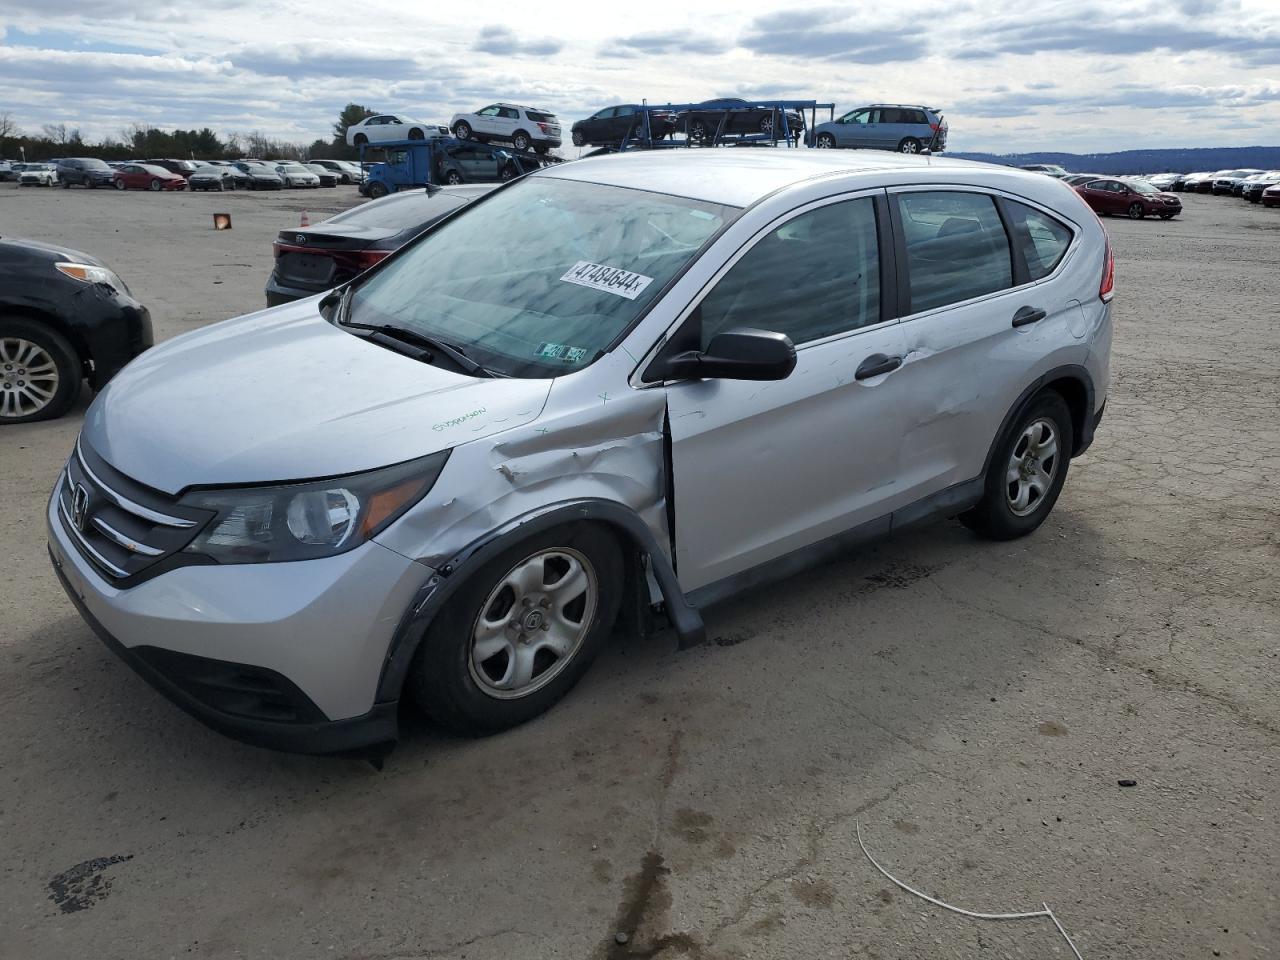
[[[79,128],[65,123],[46,123],[40,133],[20,129],[13,114],[0,113],[0,159],[52,160],[64,156],[96,156],[101,160],[234,160],[242,156],[280,160],[355,160],[358,151],[347,146],[347,127],[374,110],[361,104],[347,104],[338,114],[329,140],[296,143],[268,137],[264,133],[215,133],[201,129],[165,131],[142,123],[120,131],[118,137],[88,141]]]

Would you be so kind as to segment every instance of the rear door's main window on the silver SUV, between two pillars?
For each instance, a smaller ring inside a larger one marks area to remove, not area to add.
[[[1009,234],[984,193],[899,193],[906,246],[910,312],[1014,285]]]

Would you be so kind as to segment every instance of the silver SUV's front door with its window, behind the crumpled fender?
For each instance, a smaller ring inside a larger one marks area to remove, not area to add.
[[[736,326],[787,334],[796,369],[776,383],[667,387],[676,564],[686,590],[899,506],[905,397],[893,364],[904,348],[882,302],[884,216],[882,192],[790,215],[722,271],[690,314],[704,347]]]

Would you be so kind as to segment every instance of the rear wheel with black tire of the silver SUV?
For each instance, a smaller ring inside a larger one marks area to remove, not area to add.
[[[1037,456],[1037,444],[1043,451],[1050,439],[1052,456]],[[1053,509],[1066,481],[1074,442],[1071,411],[1062,394],[1057,390],[1038,394],[1012,419],[996,444],[982,499],[960,516],[960,522],[988,540],[1027,536]]]

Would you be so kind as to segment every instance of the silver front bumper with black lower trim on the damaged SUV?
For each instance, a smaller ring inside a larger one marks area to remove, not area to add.
[[[376,691],[392,636],[433,571],[375,543],[320,561],[178,567],[108,582],[47,512],[49,554],[86,623],[214,730],[296,753],[396,739]]]

